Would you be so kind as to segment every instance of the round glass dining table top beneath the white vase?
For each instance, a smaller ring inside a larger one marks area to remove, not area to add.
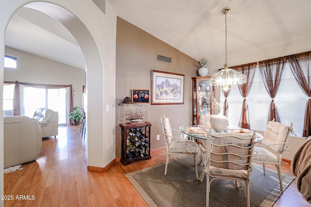
[[[216,134],[216,133],[252,133],[252,130],[248,130],[248,129],[242,129],[241,127],[232,127],[232,126],[228,126],[225,128],[224,131],[222,132],[216,132],[214,129],[212,128],[207,128],[207,127],[203,127],[200,125],[191,125],[191,126],[183,126],[180,128],[180,130],[192,137],[192,138],[197,138],[197,139],[202,139],[202,140],[207,140],[207,134],[208,132],[211,130],[212,134]],[[256,133],[256,140],[255,142],[260,142],[263,139],[263,136],[261,134],[259,134],[258,132]]]

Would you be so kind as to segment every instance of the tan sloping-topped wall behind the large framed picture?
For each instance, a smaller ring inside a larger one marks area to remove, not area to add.
[[[156,54],[172,58],[172,64],[156,61]],[[121,157],[119,103],[132,89],[151,90],[151,70],[185,75],[184,104],[150,105],[151,149],[164,146],[160,117],[170,118],[172,128],[189,125],[191,121],[191,77],[196,76],[195,60],[127,21],[117,18],[116,48],[116,157]],[[151,93],[151,92],[150,92]],[[160,140],[156,141],[156,135]]]

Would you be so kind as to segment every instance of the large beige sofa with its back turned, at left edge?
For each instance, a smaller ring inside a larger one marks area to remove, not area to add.
[[[36,119],[27,116],[3,117],[4,168],[34,161],[39,157],[42,136]]]

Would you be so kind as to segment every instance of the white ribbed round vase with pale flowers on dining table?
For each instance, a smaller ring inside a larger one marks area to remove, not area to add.
[[[221,111],[221,104],[217,101],[216,98],[213,98],[214,103],[214,109],[217,110],[217,115],[212,115],[209,119],[210,126],[216,131],[216,132],[222,132],[225,130],[225,127],[228,126],[228,118],[222,114],[220,114]]]

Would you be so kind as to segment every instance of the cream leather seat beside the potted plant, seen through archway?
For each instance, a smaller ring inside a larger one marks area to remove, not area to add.
[[[39,121],[42,138],[58,135],[58,112],[52,109],[39,108],[35,110],[33,118]]]

